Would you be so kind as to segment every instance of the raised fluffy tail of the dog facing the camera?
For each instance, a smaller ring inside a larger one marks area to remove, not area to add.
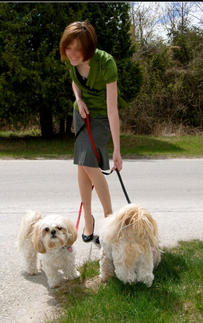
[[[17,247],[22,251],[25,239],[33,234],[34,225],[41,220],[41,213],[38,211],[29,210],[22,219],[22,226],[17,236]]]

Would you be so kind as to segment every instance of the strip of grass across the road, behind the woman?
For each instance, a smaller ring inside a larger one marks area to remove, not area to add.
[[[201,158],[203,135],[181,137],[154,137],[121,135],[120,149],[123,159],[138,158]],[[109,158],[112,158],[113,142],[108,142]],[[39,130],[24,132],[0,131],[1,159],[72,159],[72,137],[45,140]]]

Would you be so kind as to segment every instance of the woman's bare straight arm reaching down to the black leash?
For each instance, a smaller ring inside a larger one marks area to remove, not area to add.
[[[114,168],[117,168],[120,172],[123,162],[120,155],[120,123],[117,109],[117,81],[107,84],[107,115],[114,143]]]

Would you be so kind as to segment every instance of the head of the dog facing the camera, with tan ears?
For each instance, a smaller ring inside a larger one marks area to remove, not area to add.
[[[77,239],[77,231],[72,222],[64,216],[48,215],[39,220],[34,228],[33,245],[39,253],[47,249],[71,246]]]

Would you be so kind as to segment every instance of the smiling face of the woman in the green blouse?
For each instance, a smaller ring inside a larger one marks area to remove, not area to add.
[[[66,46],[66,55],[71,65],[79,65],[83,61],[82,47],[75,39],[71,44]]]

